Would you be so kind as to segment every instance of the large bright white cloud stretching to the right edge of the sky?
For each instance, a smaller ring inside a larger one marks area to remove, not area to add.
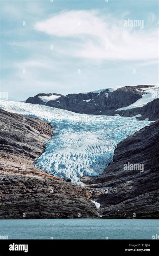
[[[123,17],[123,15],[121,15]],[[67,46],[58,52],[69,56],[107,60],[157,59],[157,29],[124,27],[123,19],[102,16],[97,10],[62,11],[34,28],[50,36],[74,38],[76,47]],[[55,45],[56,49],[56,45]]]

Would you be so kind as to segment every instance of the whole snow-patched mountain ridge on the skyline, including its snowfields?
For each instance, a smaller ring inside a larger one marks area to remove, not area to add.
[[[142,103],[147,103],[154,99],[154,93],[158,93],[158,88],[156,88],[155,86],[138,85],[116,88],[114,87],[95,90],[92,92],[78,94],[73,93],[61,96],[59,96],[59,94],[38,94],[35,97],[28,98],[26,102],[66,109],[80,114],[113,116],[115,114],[121,115],[121,113],[126,112],[125,116],[130,116],[129,111],[126,111],[124,109],[133,108],[133,105],[135,105],[136,108],[138,105],[139,107],[141,107],[140,105]],[[157,96],[155,98],[157,98]],[[136,106],[137,103],[138,105]],[[120,110],[122,110],[122,112]],[[132,111],[139,112],[137,111],[137,109]],[[143,116],[146,116],[147,118],[147,115],[149,114],[149,119],[151,120],[151,113],[147,112],[145,114],[145,111],[146,110],[144,107],[141,111],[143,113]]]

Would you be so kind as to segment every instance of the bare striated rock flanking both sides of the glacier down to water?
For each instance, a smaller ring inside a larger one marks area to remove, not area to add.
[[[52,136],[48,123],[0,109],[0,219],[158,218],[158,127],[120,142],[104,173],[82,177],[82,187],[34,166]]]

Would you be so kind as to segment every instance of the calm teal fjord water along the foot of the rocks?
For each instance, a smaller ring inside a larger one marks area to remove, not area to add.
[[[8,239],[152,239],[158,220],[43,219],[0,220]]]

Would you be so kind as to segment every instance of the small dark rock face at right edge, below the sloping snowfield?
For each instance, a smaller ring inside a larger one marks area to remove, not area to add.
[[[159,119],[159,99],[154,99],[153,101],[147,103],[143,107],[135,107],[127,110],[117,110],[116,114],[122,117],[130,117],[141,115],[138,120],[145,120],[148,118],[150,121],[156,121]]]

